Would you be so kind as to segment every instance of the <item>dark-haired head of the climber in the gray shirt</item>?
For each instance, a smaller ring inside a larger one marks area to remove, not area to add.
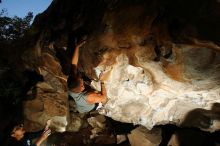
[[[82,92],[85,89],[83,79],[80,76],[70,75],[67,79],[68,89],[72,92]]]

